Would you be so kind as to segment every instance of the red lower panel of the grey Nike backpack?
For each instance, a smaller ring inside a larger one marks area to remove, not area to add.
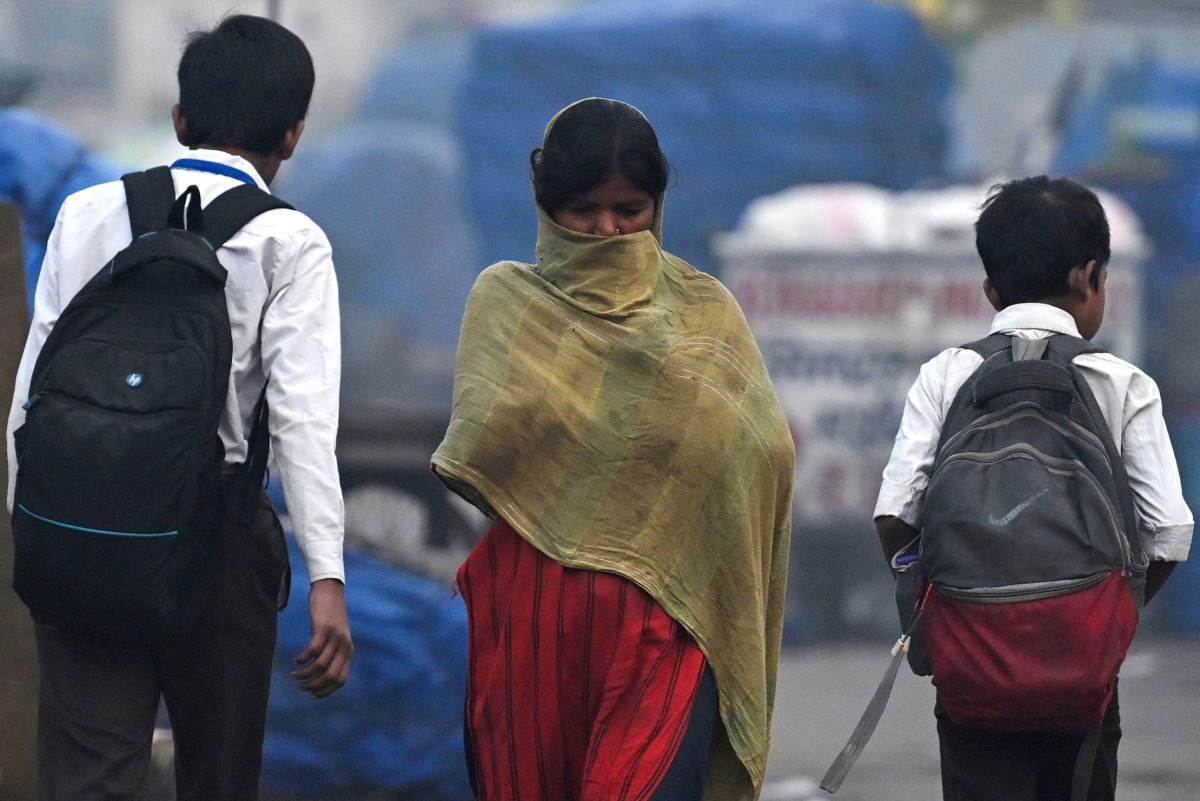
[[[950,719],[1009,731],[1099,727],[1138,625],[1127,577],[1114,572],[1078,592],[1014,603],[940,590],[920,630]]]

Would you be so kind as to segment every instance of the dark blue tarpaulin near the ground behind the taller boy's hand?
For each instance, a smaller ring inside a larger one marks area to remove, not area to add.
[[[308,579],[294,544],[290,556],[292,597],[280,615],[264,787],[312,799],[380,791],[422,801],[469,799],[462,601],[445,584],[348,550],[350,680],[332,695],[312,700],[290,679],[292,660],[310,637]]]

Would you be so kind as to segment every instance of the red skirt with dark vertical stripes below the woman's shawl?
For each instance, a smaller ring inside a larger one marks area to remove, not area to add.
[[[646,801],[688,728],[695,640],[641,588],[564,567],[498,520],[458,570],[481,801]]]

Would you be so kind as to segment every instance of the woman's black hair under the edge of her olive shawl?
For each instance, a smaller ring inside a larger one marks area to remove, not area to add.
[[[553,216],[613,175],[658,199],[670,165],[649,120],[620,101],[589,98],[563,110],[541,147],[529,153],[534,197]]]

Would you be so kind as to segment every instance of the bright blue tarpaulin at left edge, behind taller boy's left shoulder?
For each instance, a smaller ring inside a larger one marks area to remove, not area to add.
[[[59,206],[72,192],[121,173],[56,122],[26,109],[0,108],[0,200],[20,207],[30,306]]]

